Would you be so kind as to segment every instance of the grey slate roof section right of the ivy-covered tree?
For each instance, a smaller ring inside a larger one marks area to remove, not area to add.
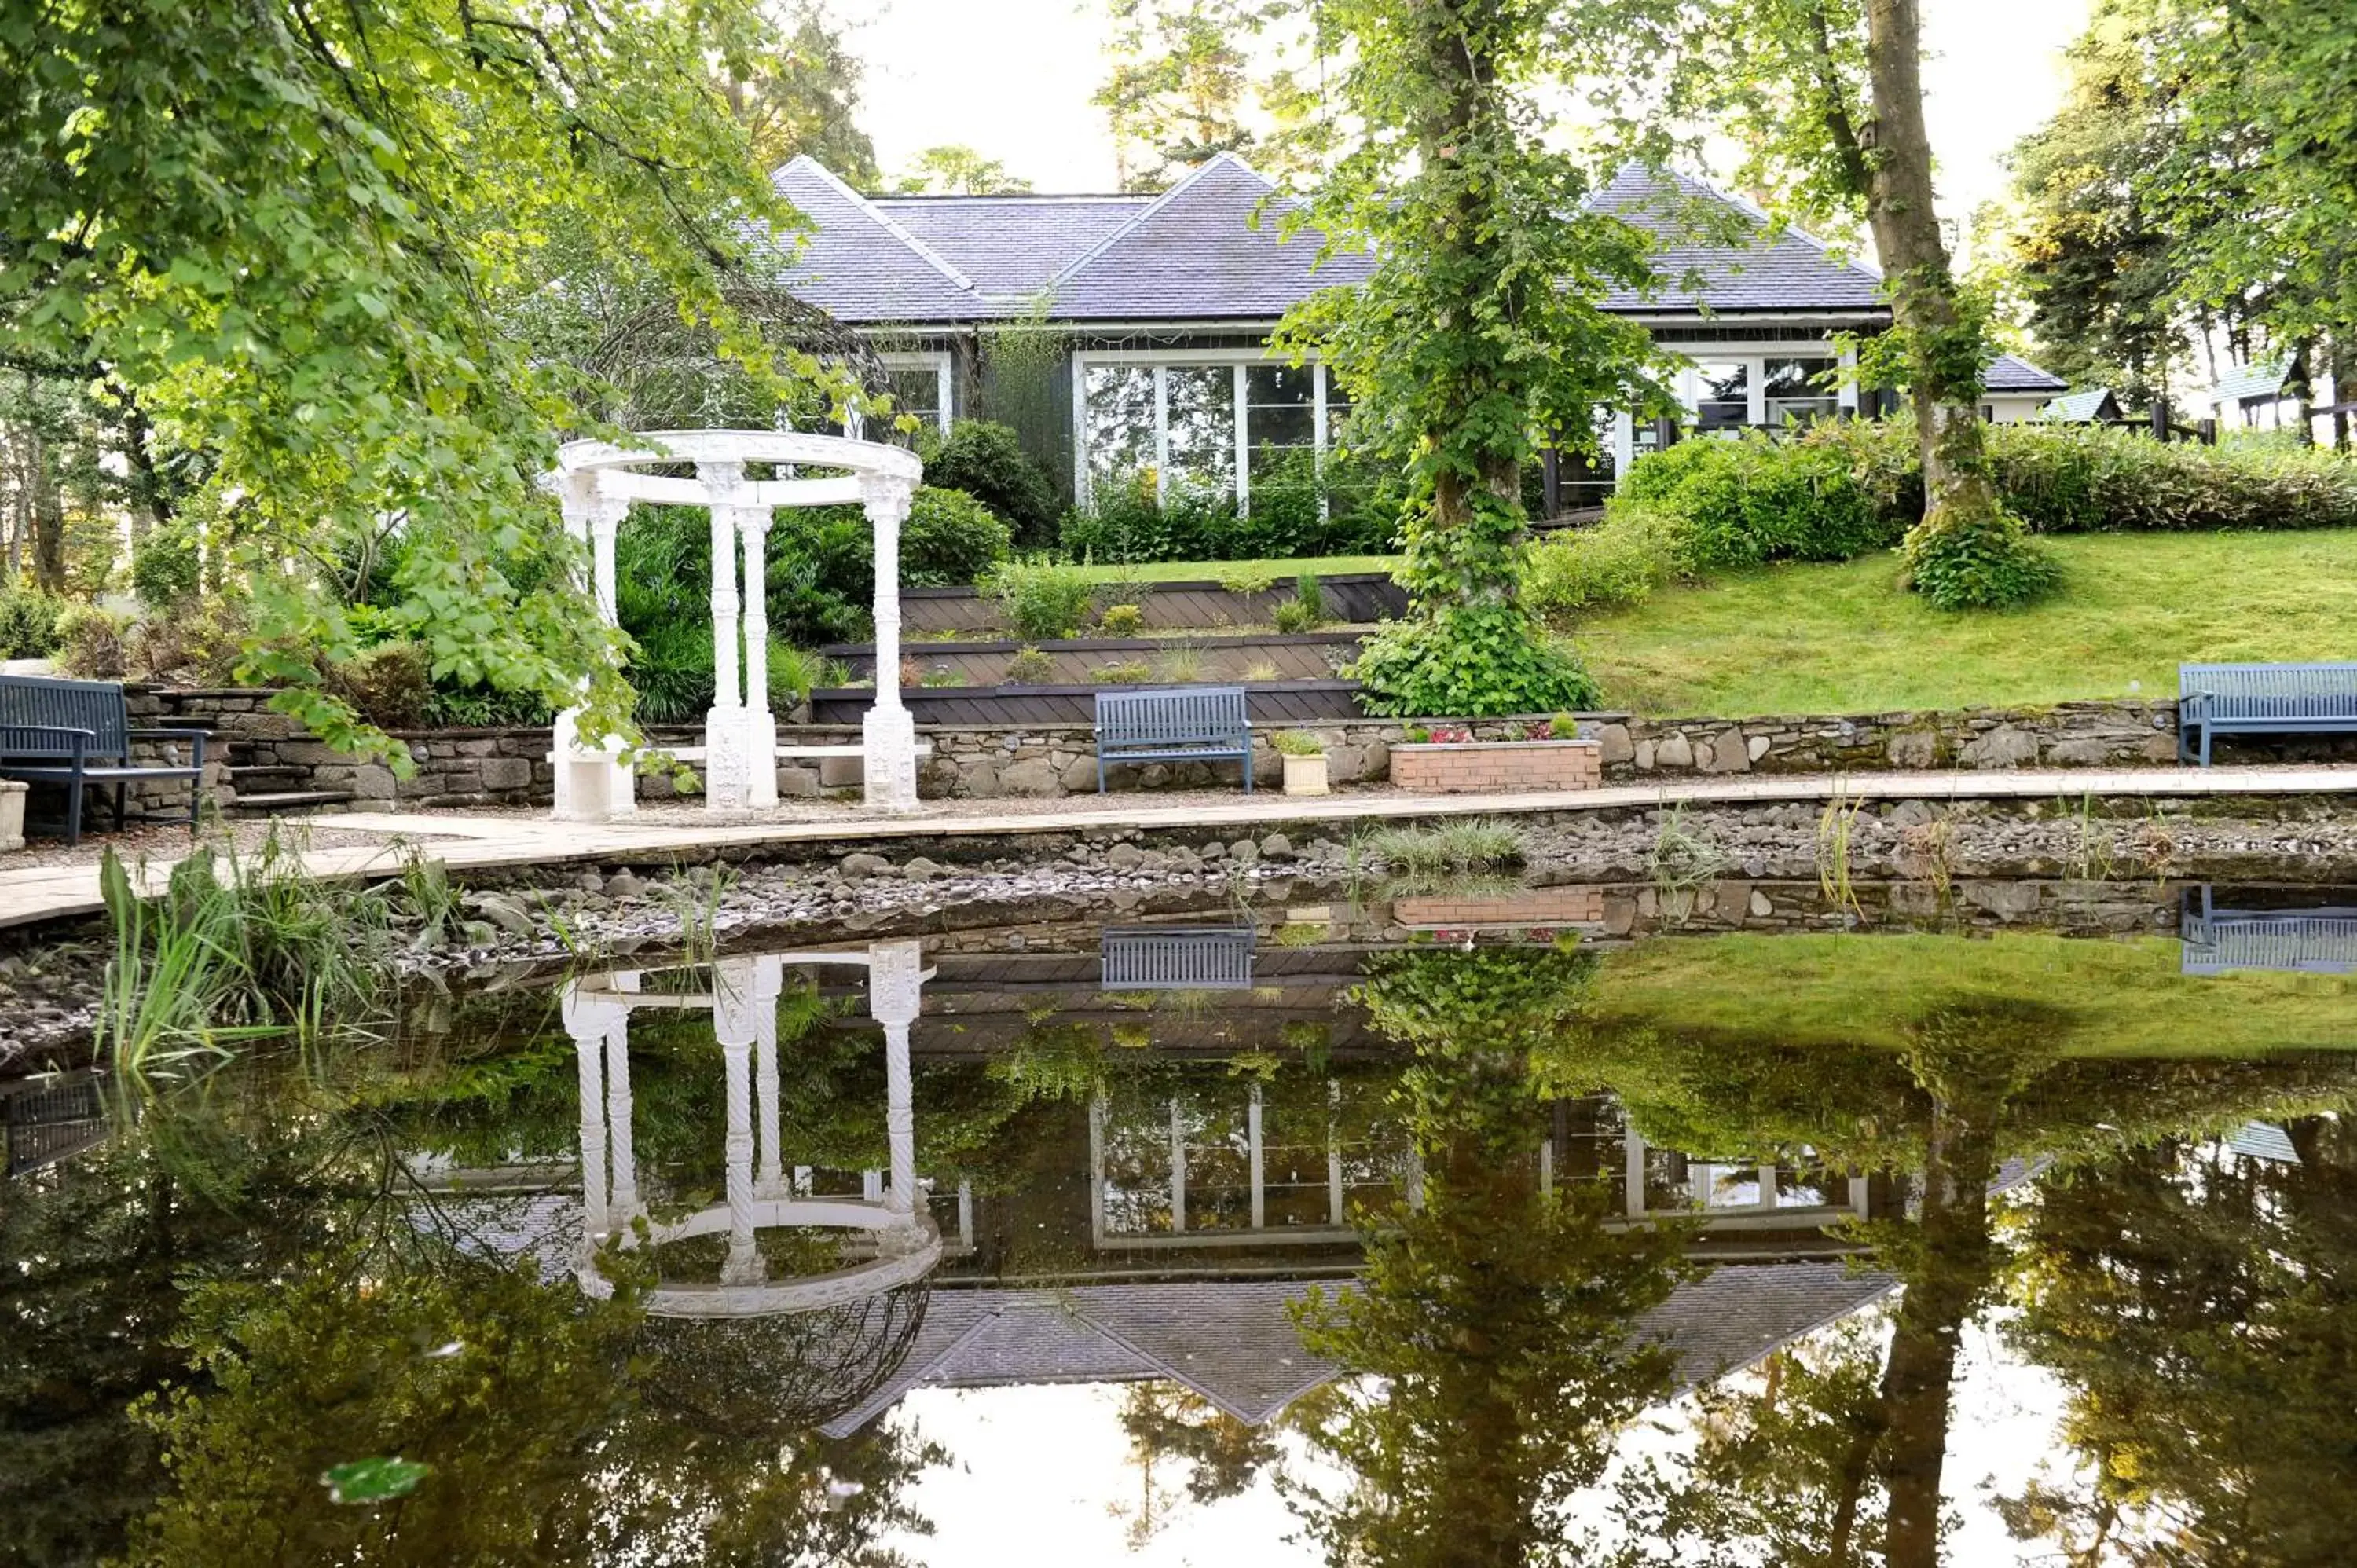
[[[1690,207],[1732,224],[1747,243],[1697,243],[1688,236]],[[1888,314],[1879,271],[1836,259],[1824,241],[1798,229],[1775,233],[1765,212],[1688,174],[1629,163],[1589,198],[1589,210],[1610,212],[1662,243],[1655,252],[1659,288],[1652,295],[1615,290],[1603,302],[1607,311]],[[1690,271],[1699,276],[1699,288],[1685,285]]]

